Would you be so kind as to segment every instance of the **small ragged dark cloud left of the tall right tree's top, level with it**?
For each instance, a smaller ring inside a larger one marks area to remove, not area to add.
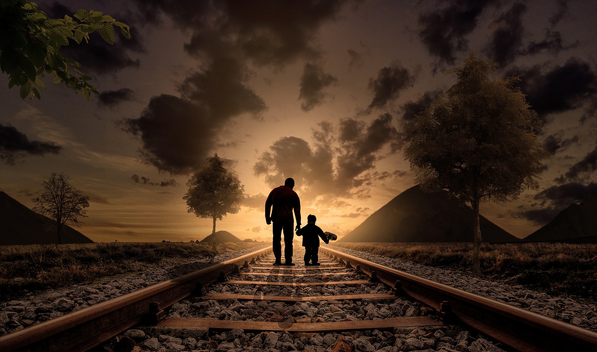
[[[373,108],[384,107],[387,101],[398,98],[400,91],[413,87],[414,81],[414,75],[399,63],[392,63],[389,67],[378,70],[377,78],[369,80],[369,89],[375,95],[367,108],[368,112]]]

